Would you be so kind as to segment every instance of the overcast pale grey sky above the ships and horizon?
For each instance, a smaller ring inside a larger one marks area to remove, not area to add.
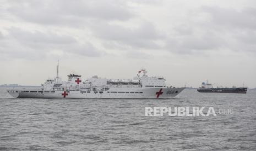
[[[256,87],[256,1],[0,1],[0,84],[69,73]]]

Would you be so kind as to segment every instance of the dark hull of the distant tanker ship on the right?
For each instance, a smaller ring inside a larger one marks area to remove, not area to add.
[[[246,94],[247,88],[200,88],[198,92]]]

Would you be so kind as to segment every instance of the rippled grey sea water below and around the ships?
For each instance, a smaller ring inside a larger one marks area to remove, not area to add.
[[[255,150],[256,91],[172,99],[12,98],[0,88],[0,150]],[[145,116],[145,107],[232,109]]]

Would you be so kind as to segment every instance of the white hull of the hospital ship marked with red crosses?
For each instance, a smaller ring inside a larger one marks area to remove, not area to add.
[[[112,89],[110,91],[8,91],[18,98],[172,98],[185,88]]]

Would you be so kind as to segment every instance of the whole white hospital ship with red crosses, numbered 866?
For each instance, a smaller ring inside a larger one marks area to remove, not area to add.
[[[47,79],[39,90],[8,90],[22,98],[171,98],[185,88],[166,86],[165,78],[149,77],[141,69],[133,79],[107,79],[97,75],[83,80],[81,75],[68,75],[67,82],[58,75]]]

